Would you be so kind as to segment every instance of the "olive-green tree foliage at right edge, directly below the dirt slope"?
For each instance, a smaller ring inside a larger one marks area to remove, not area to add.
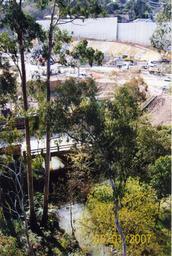
[[[171,154],[171,128],[152,127],[145,119],[138,125],[138,169],[140,181],[150,183],[156,159]]]

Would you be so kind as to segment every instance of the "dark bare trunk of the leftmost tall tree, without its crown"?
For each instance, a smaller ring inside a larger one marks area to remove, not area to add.
[[[20,45],[20,59],[21,59],[21,70],[22,70],[22,89],[23,89],[23,102],[24,110],[28,110],[27,94],[26,94],[26,68],[25,59],[23,53],[23,38],[22,33],[18,34],[19,45]],[[31,170],[31,143],[30,143],[30,132],[28,118],[25,118],[25,129],[26,129],[26,147],[27,147],[27,176],[28,176],[28,199],[29,199],[29,210],[30,210],[30,225],[31,229],[36,227],[36,214],[34,211],[34,186],[33,177]]]

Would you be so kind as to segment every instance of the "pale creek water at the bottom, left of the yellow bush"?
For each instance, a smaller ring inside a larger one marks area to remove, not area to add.
[[[79,223],[79,219],[82,218],[83,212],[87,212],[87,207],[82,203],[76,203],[74,205],[63,206],[58,209],[58,215],[60,218],[60,227],[66,230],[66,233],[71,235],[71,213],[72,213],[72,223],[74,227],[74,235],[79,242],[79,246],[82,249],[87,248],[90,252],[90,256],[110,256],[112,255],[110,249],[101,244],[95,244],[95,239],[93,234],[89,234],[89,238],[85,237],[82,231],[82,225]]]

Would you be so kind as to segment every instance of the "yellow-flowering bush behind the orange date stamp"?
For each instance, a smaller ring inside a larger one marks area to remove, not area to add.
[[[156,195],[151,187],[128,181],[119,214],[128,255],[166,255],[159,243],[160,236],[166,237],[166,234],[160,235],[154,229],[157,209]],[[98,243],[99,236],[100,243],[122,251],[120,233],[114,223],[114,197],[109,185],[99,186],[88,195],[87,210],[89,214],[85,212],[82,218],[85,235],[93,233],[93,243]],[[96,238],[95,234],[98,235]]]

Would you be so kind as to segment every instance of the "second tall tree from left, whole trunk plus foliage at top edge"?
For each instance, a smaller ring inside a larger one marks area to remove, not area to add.
[[[48,0],[36,1],[37,6],[41,7],[42,10],[47,7],[50,3]],[[76,19],[85,20],[85,18],[92,17],[98,18],[102,12],[101,6],[97,1],[87,0],[87,1],[52,1],[52,12],[50,19],[50,27],[48,29],[48,47],[47,47],[47,102],[50,102],[50,58],[52,56],[52,48],[53,48],[53,34],[55,31],[55,27],[60,23],[69,23]],[[57,18],[55,18],[55,15]],[[71,20],[61,21],[63,18],[70,17]],[[42,217],[42,225],[46,225],[47,222],[47,209],[48,209],[48,195],[49,195],[49,179],[50,179],[50,122],[47,119],[46,124],[46,164],[45,164],[45,181],[44,181],[44,211]]]

